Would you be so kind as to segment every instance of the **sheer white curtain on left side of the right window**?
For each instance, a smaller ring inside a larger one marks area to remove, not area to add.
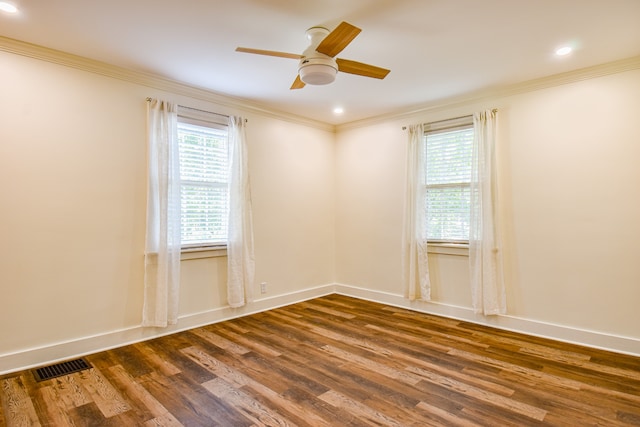
[[[412,301],[431,299],[427,260],[425,149],[424,126],[422,124],[410,126],[404,197],[402,268],[405,296]]]

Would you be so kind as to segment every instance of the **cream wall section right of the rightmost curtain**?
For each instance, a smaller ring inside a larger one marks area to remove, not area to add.
[[[512,311],[639,338],[640,72],[507,102]]]

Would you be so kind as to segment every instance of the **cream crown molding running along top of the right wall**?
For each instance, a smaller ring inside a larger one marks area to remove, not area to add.
[[[640,56],[621,59],[618,61],[607,62],[592,67],[581,68],[565,73],[554,74],[539,79],[528,80],[521,83],[515,83],[508,86],[499,86],[489,89],[483,89],[476,92],[467,93],[453,98],[445,98],[436,100],[427,104],[413,106],[383,114],[375,117],[369,117],[349,123],[343,123],[336,126],[336,132],[342,130],[371,126],[374,124],[387,122],[391,120],[402,120],[414,116],[416,114],[428,114],[439,111],[445,111],[451,108],[464,107],[472,103],[482,101],[495,100],[497,98],[505,98],[508,96],[519,95],[527,92],[548,89],[569,83],[576,83],[583,80],[589,80],[597,77],[604,77],[611,74],[618,74],[625,71],[633,71],[640,69]]]

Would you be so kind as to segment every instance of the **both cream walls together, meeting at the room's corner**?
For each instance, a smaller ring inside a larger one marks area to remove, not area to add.
[[[640,342],[637,69],[337,134],[5,52],[0,71],[0,372],[163,333],[118,335],[140,329],[147,96],[249,119],[246,312],[323,287],[401,296],[402,126],[496,107],[508,315]],[[430,264],[435,305],[468,309],[467,258]],[[182,279],[183,319],[225,310],[226,258],[183,261]]]

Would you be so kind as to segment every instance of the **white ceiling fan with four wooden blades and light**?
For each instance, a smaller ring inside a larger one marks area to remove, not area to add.
[[[291,89],[302,89],[305,84],[326,85],[333,82],[338,71],[359,76],[384,79],[390,70],[350,59],[335,58],[362,31],[348,22],[342,22],[333,31],[324,27],[311,27],[306,31],[309,39],[301,55],[273,50],[236,48],[237,52],[291,58],[300,61],[298,76]]]

